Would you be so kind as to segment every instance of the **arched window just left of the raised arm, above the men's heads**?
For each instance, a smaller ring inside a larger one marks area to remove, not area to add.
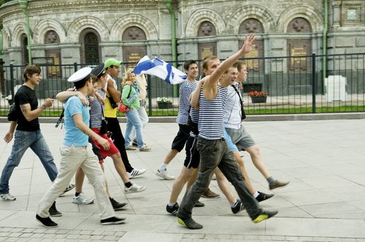
[[[203,21],[198,28],[198,37],[209,37],[217,35],[217,30],[210,21]],[[208,55],[217,55],[217,42],[198,43],[198,58],[204,59]]]

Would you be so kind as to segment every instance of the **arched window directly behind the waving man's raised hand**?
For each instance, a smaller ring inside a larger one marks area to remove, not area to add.
[[[262,23],[257,19],[245,19],[239,26],[238,33],[243,38],[245,35],[251,33],[264,33],[264,27],[262,26]],[[244,40],[239,41],[238,48],[241,48],[243,44]],[[255,50],[252,50],[251,53],[246,54],[244,57],[264,57],[264,39],[255,39],[255,46]],[[253,74],[264,74],[264,59],[248,59],[246,60],[246,67],[247,70]]]

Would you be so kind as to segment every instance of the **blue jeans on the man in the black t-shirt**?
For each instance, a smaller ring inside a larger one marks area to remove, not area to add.
[[[12,171],[22,160],[25,151],[31,147],[32,151],[40,158],[44,169],[53,182],[58,174],[56,164],[53,162],[53,156],[49,147],[44,140],[40,130],[37,131],[20,131],[16,130],[14,135],[14,145],[12,145],[11,154],[3,167],[0,178],[0,194],[9,193],[9,180]]]

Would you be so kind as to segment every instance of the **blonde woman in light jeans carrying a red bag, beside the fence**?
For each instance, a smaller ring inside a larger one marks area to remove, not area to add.
[[[127,127],[126,127],[126,149],[131,149],[130,145],[130,132],[132,131],[132,127],[135,127],[136,138],[137,138],[137,147],[139,151],[150,151],[151,148],[146,146],[143,141],[142,130],[143,124],[141,118],[139,118],[138,110],[139,106],[139,89],[137,86],[136,75],[133,73],[132,69],[128,69],[126,74],[124,75],[123,81],[121,82],[121,86],[123,87],[123,91],[121,92],[121,100],[122,102],[130,108],[130,111],[126,112],[125,115],[127,117]]]

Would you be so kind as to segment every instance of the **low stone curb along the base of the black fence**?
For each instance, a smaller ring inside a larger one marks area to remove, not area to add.
[[[275,115],[247,115],[245,122],[258,121],[304,121],[304,120],[359,120],[365,119],[365,113],[303,113]],[[58,117],[40,117],[41,123],[55,123]],[[126,122],[126,117],[119,117],[119,122]],[[0,117],[0,122],[9,122],[6,117]],[[176,122],[176,117],[149,117],[148,122]]]

